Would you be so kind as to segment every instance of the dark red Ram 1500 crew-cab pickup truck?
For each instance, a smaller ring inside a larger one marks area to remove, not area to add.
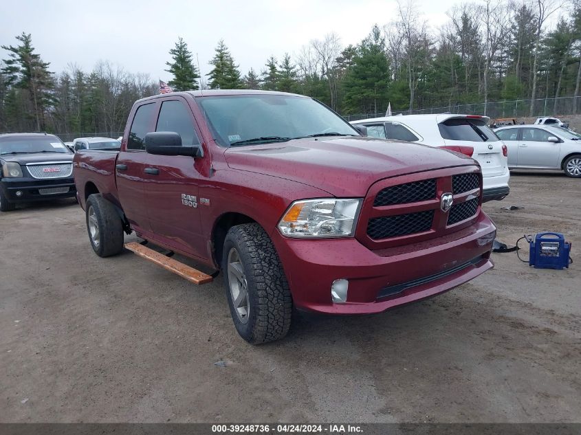
[[[476,161],[360,131],[289,93],[139,100],[119,152],[74,157],[91,246],[118,254],[134,231],[223,271],[234,326],[252,343],[283,337],[294,308],[378,313],[490,269],[496,227]]]

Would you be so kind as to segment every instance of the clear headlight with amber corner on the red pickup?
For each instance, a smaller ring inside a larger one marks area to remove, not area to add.
[[[351,237],[361,199],[305,199],[294,201],[278,230],[289,237]]]

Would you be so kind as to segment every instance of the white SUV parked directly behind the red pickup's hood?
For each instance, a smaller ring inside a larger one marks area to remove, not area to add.
[[[509,193],[510,171],[507,147],[487,126],[489,120],[486,116],[440,113],[384,116],[351,124],[366,126],[369,137],[417,142],[469,155],[482,168],[482,199],[491,201]]]

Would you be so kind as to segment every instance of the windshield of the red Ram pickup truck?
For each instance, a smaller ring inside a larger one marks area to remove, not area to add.
[[[359,135],[340,116],[311,98],[256,94],[201,97],[197,101],[215,140],[223,146]]]

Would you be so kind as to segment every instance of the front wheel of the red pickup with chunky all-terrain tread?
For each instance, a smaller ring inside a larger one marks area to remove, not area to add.
[[[228,230],[222,271],[230,314],[243,339],[261,344],[287,335],[292,295],[276,249],[260,225]]]

